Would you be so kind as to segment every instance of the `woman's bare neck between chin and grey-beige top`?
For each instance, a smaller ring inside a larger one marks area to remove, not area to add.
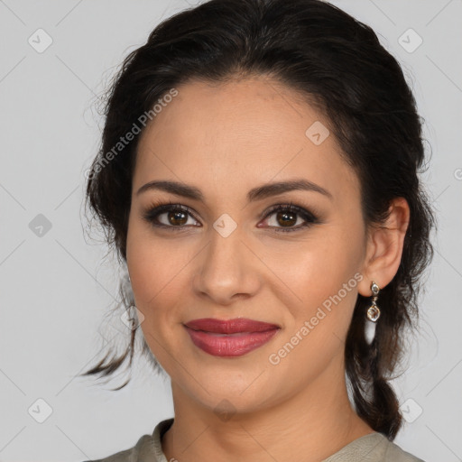
[[[167,460],[319,462],[374,432],[352,409],[345,374],[326,375],[283,402],[221,419],[172,383],[175,420],[162,438]]]

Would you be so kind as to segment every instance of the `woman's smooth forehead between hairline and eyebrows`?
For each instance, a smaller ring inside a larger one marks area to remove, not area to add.
[[[294,177],[333,196],[357,188],[327,119],[295,90],[266,77],[177,90],[142,134],[134,189],[179,180],[206,195],[244,198],[256,184]]]

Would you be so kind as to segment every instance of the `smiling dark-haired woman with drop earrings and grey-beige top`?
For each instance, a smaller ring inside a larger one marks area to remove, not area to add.
[[[101,461],[420,460],[389,384],[432,255],[420,130],[397,61],[319,0],[211,0],[125,59],[88,202],[132,337],[87,374],[141,329],[175,415]]]

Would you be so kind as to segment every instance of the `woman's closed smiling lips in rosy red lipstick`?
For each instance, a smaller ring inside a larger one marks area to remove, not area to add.
[[[280,329],[254,319],[193,319],[185,328],[196,347],[214,356],[242,356],[268,342]]]

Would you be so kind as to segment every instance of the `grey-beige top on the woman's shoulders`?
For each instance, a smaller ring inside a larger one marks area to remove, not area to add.
[[[152,435],[143,435],[134,448],[91,462],[169,462],[162,452],[162,435],[173,418],[159,422]],[[90,462],[89,460],[85,462]],[[174,462],[174,460],[172,461]],[[382,433],[370,433],[355,439],[322,462],[424,462],[386,439]]]

